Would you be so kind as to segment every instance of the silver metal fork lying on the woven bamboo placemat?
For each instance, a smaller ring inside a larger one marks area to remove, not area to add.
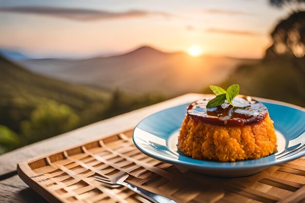
[[[97,175],[94,176],[95,180],[101,182],[103,184],[103,186],[105,186],[105,187],[116,188],[116,187],[120,187],[122,185],[126,186],[129,189],[133,190],[135,193],[137,193],[140,196],[144,197],[145,199],[151,201],[152,203],[177,203],[162,195],[152,193],[143,188],[140,188],[135,185],[124,182],[128,177],[129,177],[128,173],[122,173],[122,175],[117,176],[115,178],[105,178],[105,177],[101,177],[101,176],[97,176]]]

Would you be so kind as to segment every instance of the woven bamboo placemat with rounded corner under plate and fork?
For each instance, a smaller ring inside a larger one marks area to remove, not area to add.
[[[126,182],[178,203],[305,203],[305,157],[248,177],[217,178],[146,156],[133,145],[132,130],[18,165],[20,178],[50,203],[147,203],[93,178],[120,171],[130,175]]]

